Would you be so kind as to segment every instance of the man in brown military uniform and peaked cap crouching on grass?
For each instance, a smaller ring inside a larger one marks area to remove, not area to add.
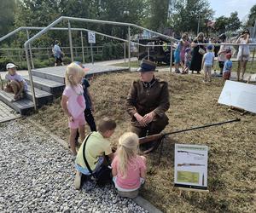
[[[168,124],[165,113],[170,107],[168,83],[154,77],[155,67],[150,60],[142,61],[137,70],[141,79],[131,84],[126,99],[131,131],[139,137],[158,134]]]

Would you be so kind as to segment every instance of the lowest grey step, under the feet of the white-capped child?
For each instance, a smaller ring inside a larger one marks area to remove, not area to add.
[[[34,110],[33,102],[29,99],[24,98],[20,101],[11,102],[13,98],[13,94],[0,90],[0,100],[7,104],[9,107],[12,107],[21,115],[26,115],[28,112],[32,112]]]

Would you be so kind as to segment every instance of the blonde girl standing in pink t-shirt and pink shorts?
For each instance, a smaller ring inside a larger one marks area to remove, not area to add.
[[[63,91],[61,107],[68,116],[68,127],[70,128],[69,144],[73,155],[77,155],[75,137],[77,130],[81,141],[84,141],[84,89],[81,80],[84,77],[84,70],[76,63],[71,63],[66,70],[66,88]]]

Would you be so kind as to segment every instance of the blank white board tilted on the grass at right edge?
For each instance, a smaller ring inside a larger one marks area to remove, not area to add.
[[[256,85],[226,81],[218,103],[256,113]]]

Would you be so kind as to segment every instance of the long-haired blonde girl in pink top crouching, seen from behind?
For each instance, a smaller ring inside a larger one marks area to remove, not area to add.
[[[122,197],[136,198],[146,176],[146,158],[137,154],[138,136],[127,132],[119,138],[117,155],[113,158],[113,182]]]

